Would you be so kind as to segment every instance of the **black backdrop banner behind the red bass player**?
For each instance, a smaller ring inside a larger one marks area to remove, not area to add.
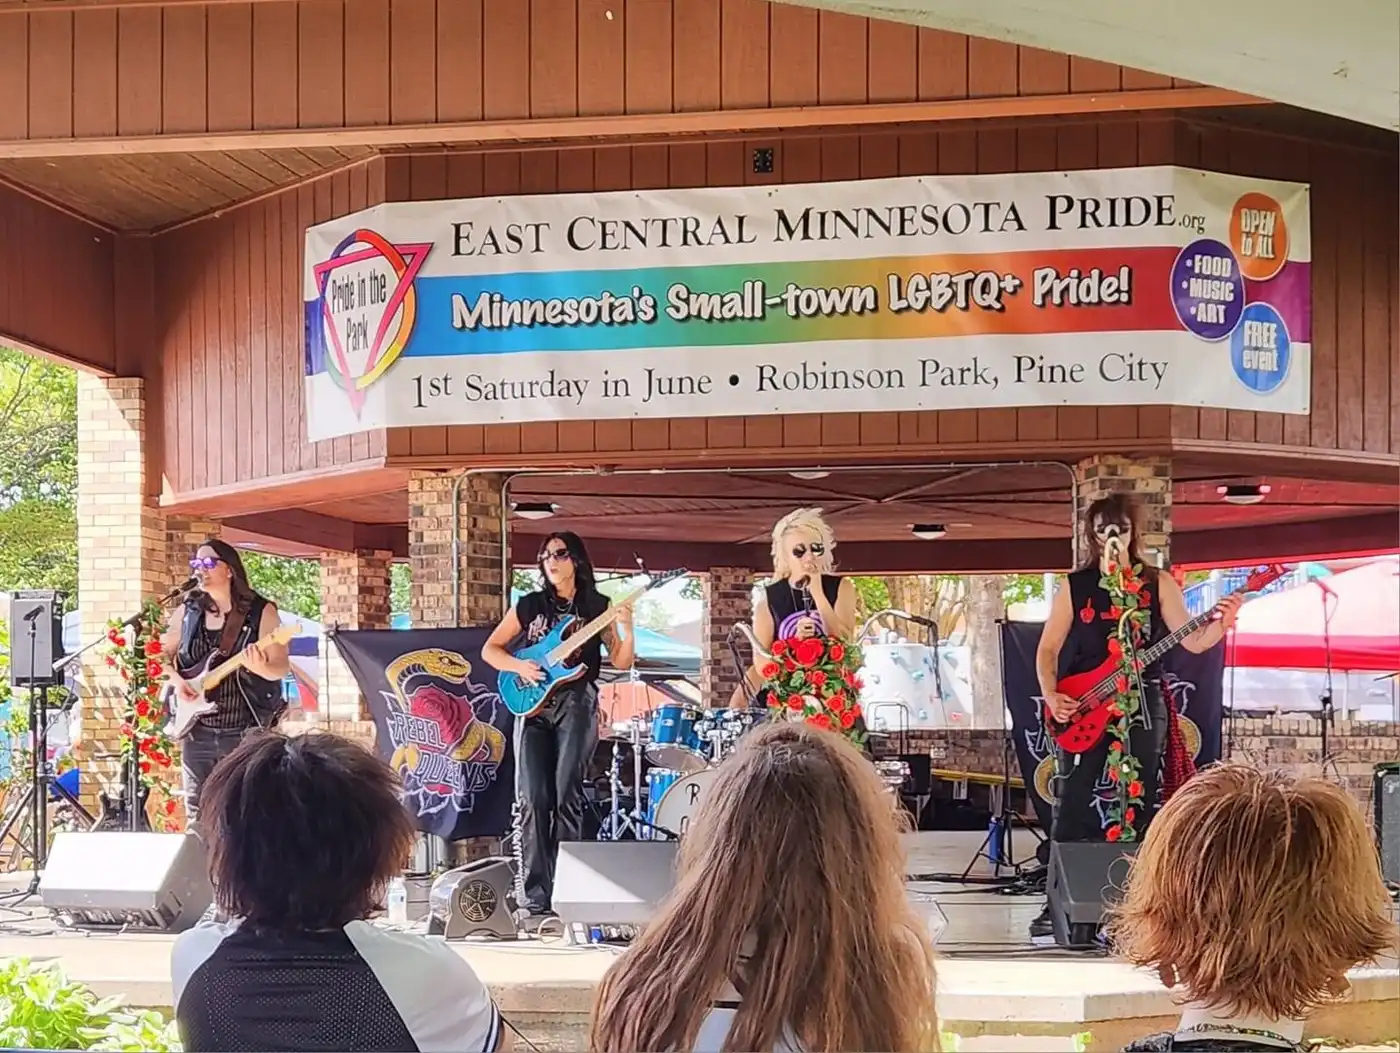
[[[1001,683],[1007,709],[1011,710],[1011,735],[1021,774],[1036,818],[1049,830],[1054,760],[1040,720],[1040,683],[1036,678],[1036,646],[1043,627],[1043,622],[1001,623]],[[1221,756],[1224,682],[1224,644],[1205,654],[1176,647],[1162,658],[1162,683],[1182,717],[1186,746],[1193,752],[1197,767],[1214,765]]]

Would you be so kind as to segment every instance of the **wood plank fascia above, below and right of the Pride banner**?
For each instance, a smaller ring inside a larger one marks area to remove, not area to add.
[[[906,70],[913,76],[913,69]],[[776,147],[771,175],[749,151]],[[1393,161],[1302,140],[1183,122],[1065,123],[907,134],[685,146],[421,154],[386,161],[389,200],[566,193],[892,175],[1050,171],[1152,164],[1313,182],[1313,413],[1166,406],[981,409],[685,420],[420,427],[391,433],[400,456],[501,458],[627,451],[1207,440],[1400,452],[1397,211]]]

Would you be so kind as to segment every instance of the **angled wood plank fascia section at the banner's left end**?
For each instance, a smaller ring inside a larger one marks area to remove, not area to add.
[[[307,227],[384,200],[384,162],[336,172],[155,239],[164,468],[176,494],[384,455],[384,431],[307,441]]]

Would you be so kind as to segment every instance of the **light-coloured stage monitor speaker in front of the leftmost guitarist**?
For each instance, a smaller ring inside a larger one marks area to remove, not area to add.
[[[78,928],[182,933],[204,914],[214,891],[204,846],[192,833],[60,833],[39,896]]]

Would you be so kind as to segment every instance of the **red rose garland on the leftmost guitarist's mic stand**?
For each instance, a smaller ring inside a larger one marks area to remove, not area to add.
[[[130,756],[134,739],[141,786],[150,790],[147,809],[151,825],[157,830],[178,830],[182,816],[174,791],[176,748],[165,734],[168,718],[160,702],[167,662],[175,658],[161,648],[162,632],[165,612],[148,599],[134,625],[116,620],[108,625],[104,660],[122,678],[122,756]],[[127,804],[134,807],[134,802]]]

